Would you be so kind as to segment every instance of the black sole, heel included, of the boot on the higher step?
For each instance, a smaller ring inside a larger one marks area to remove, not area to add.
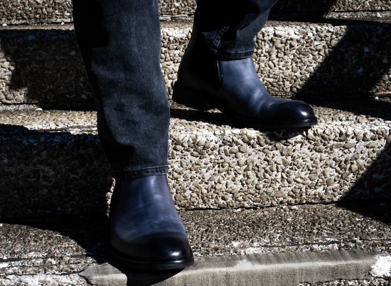
[[[176,83],[174,85],[173,101],[199,111],[207,111],[217,108],[226,116],[236,119],[239,124],[243,124],[246,127],[281,129],[309,127],[318,124],[318,119],[316,117],[289,120],[260,120],[245,118],[235,114],[232,110],[219,105],[213,100],[213,95],[184,87]]]

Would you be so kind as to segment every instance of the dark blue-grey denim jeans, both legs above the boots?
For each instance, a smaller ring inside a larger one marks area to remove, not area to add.
[[[247,58],[276,1],[198,0],[195,25],[212,54]],[[73,21],[112,176],[166,174],[170,109],[157,0],[73,0]]]

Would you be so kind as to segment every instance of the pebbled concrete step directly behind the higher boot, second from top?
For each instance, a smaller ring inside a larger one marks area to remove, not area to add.
[[[1,103],[93,108],[72,28],[68,24],[0,30]],[[379,22],[270,22],[257,36],[256,68],[273,95],[312,103],[387,93],[390,29],[391,24]],[[161,67],[169,97],[190,32],[190,22],[162,23]]]

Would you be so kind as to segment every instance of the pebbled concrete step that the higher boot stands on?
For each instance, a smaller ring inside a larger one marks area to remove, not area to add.
[[[169,183],[175,204],[224,209],[388,199],[390,107],[390,100],[315,106],[317,126],[262,131],[217,111],[173,106]],[[0,113],[1,217],[106,211],[112,180],[95,117]]]

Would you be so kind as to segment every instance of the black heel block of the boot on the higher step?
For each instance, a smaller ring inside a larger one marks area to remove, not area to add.
[[[180,85],[174,85],[173,100],[176,103],[186,105],[200,111],[206,111],[213,109],[212,104],[208,102],[207,94],[203,94],[200,91],[183,87]]]

